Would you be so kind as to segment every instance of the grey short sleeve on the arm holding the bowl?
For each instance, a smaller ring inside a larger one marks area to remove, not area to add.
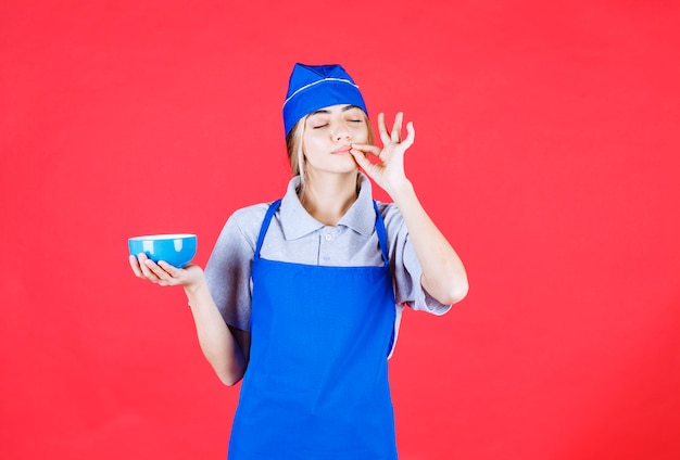
[[[205,266],[205,281],[222,317],[243,331],[250,330],[251,268],[266,209],[266,204],[260,204],[234,213]]]

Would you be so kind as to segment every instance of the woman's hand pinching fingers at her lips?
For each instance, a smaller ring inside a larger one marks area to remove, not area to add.
[[[382,141],[382,149],[377,145],[353,143],[350,150],[358,166],[392,197],[393,193],[401,187],[410,184],[404,171],[404,154],[413,145],[416,131],[413,123],[408,122],[406,124],[406,139],[402,140],[403,118],[404,114],[398,113],[392,130],[388,132],[385,114],[378,114],[378,131],[380,141]],[[375,156],[377,162],[372,162],[370,155]]]

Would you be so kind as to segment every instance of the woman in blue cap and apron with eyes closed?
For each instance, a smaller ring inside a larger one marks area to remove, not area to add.
[[[404,173],[415,130],[396,115],[382,148],[339,65],[293,68],[282,200],[237,210],[205,272],[143,254],[134,272],[182,285],[219,379],[243,379],[229,459],[394,459],[387,359],[402,309],[437,315],[467,293],[461,259]],[[373,158],[369,159],[369,158]],[[370,181],[393,204],[372,199]]]

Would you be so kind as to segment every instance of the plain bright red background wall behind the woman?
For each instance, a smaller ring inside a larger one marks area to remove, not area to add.
[[[126,239],[204,265],[284,193],[293,63],[340,62],[470,279],[405,315],[401,458],[680,458],[677,2],[2,3],[0,457],[224,458],[238,388]]]

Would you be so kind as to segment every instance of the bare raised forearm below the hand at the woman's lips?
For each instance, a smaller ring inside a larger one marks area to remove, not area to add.
[[[468,290],[465,267],[420,204],[411,181],[405,180],[390,195],[404,218],[423,267],[423,288],[444,305],[462,301]]]

